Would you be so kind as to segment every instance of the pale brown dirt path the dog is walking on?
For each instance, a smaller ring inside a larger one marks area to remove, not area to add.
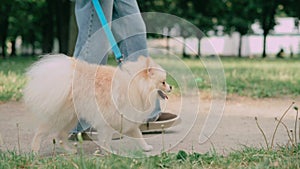
[[[148,142],[154,145],[154,147],[165,144],[165,149],[173,147],[171,151],[186,150],[201,153],[207,152],[214,147],[219,153],[228,153],[244,145],[265,146],[262,134],[255,124],[254,117],[258,117],[261,127],[264,129],[268,139],[270,139],[276,125],[274,118],[280,117],[291,102],[295,101],[295,105],[300,105],[300,98],[255,100],[231,96],[227,98],[222,120],[217,124],[218,127],[213,136],[209,141],[199,145],[199,134],[207,115],[210,113],[211,102],[208,99],[201,100],[198,112],[194,109],[195,105],[199,103],[197,99],[191,97],[184,98],[183,100],[185,100],[184,105],[181,105],[182,100],[180,98],[171,97],[166,104],[167,111],[180,113],[183,120],[179,126],[167,130],[165,135],[145,135],[147,138],[150,138]],[[184,111],[179,112],[180,109],[178,106],[185,107]],[[197,117],[195,116],[196,114]],[[34,131],[33,128],[30,127],[30,124],[34,123],[34,121],[31,121],[27,117],[27,111],[21,102],[0,104],[0,135],[3,141],[3,144],[0,145],[0,149],[18,149],[19,140],[21,151],[30,151],[30,142]],[[293,129],[294,119],[295,111],[291,110],[284,119],[284,122],[289,128]],[[190,128],[191,130],[189,130]],[[287,134],[282,126],[279,127],[275,141],[276,144],[285,144],[288,142]],[[46,143],[42,145],[42,151],[50,153],[51,147],[53,147],[51,146],[51,141],[48,141],[48,143],[46,141]],[[84,143],[84,148],[87,152],[93,152],[96,147],[93,142]],[[160,150],[157,149],[157,151]]]

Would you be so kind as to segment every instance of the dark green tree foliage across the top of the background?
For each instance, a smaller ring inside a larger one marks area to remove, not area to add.
[[[276,24],[275,15],[284,13],[286,16],[299,17],[299,0],[138,0],[138,3],[142,12],[168,13],[196,25],[202,33],[182,29],[181,36],[197,37],[199,45],[203,35],[214,31],[217,25],[224,26],[227,33],[235,30],[244,35],[250,32],[249,25],[256,20],[267,36]],[[23,45],[49,53],[52,51],[54,38],[57,37],[60,51],[66,52],[67,32],[73,30],[68,28],[70,8],[68,0],[3,0],[0,6],[2,48],[5,51],[7,40],[15,42],[18,36],[22,36]],[[160,21],[160,18],[153,19],[157,20],[155,25],[160,32],[165,27],[170,31],[177,24]],[[299,21],[295,22],[299,24]],[[198,53],[200,55],[200,50]]]

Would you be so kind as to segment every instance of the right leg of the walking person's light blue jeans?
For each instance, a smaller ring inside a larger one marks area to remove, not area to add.
[[[112,30],[125,60],[134,61],[141,55],[149,56],[146,27],[136,0],[115,0],[112,20]],[[161,113],[158,99],[155,105],[148,122],[157,120]]]

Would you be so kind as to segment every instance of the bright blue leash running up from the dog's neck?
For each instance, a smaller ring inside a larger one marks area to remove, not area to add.
[[[115,58],[118,63],[121,63],[123,60],[123,55],[121,54],[121,51],[117,45],[116,39],[115,39],[114,35],[112,34],[112,32],[109,28],[109,25],[107,24],[107,20],[105,18],[104,12],[100,6],[100,3],[98,0],[92,0],[92,2],[95,7],[95,10],[97,12],[98,18],[102,24],[104,32],[107,36],[107,39],[109,40],[109,43],[112,46],[112,50],[114,52]]]

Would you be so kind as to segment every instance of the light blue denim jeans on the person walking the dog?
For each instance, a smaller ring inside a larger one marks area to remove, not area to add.
[[[101,0],[101,7],[111,22],[111,29],[125,60],[134,61],[138,56],[148,56],[146,28],[136,0]],[[74,57],[94,64],[106,64],[111,46],[101,29],[101,23],[91,0],[76,0],[78,37]],[[161,113],[159,100],[147,121],[154,121]],[[82,132],[90,125],[79,120],[71,131]]]

